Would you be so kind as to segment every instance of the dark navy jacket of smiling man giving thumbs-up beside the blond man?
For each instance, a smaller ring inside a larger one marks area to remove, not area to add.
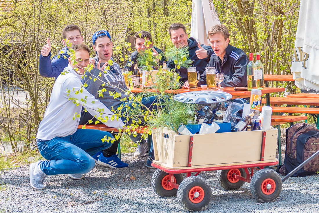
[[[196,50],[199,49],[199,47],[197,46],[197,41],[190,37],[188,40],[188,47],[189,47],[189,59],[191,59],[193,61],[193,67],[197,68],[197,71],[199,72],[199,75],[203,74],[203,72],[205,71],[205,68],[208,64],[208,62],[210,61],[211,55],[214,53],[213,50],[211,49],[211,46],[207,46],[207,45],[201,45],[201,47],[203,47],[204,49],[207,50],[207,58],[203,58],[203,59],[199,59],[196,55]],[[167,67],[169,67],[170,69],[174,69],[175,68],[175,64],[173,61],[168,61],[167,62]],[[188,81],[188,75],[187,75],[187,68],[185,67],[181,67],[178,70],[175,70],[175,72],[179,73],[181,78],[180,78],[180,82],[182,84],[184,84],[184,82]],[[200,87],[200,82],[198,82],[197,84]]]

